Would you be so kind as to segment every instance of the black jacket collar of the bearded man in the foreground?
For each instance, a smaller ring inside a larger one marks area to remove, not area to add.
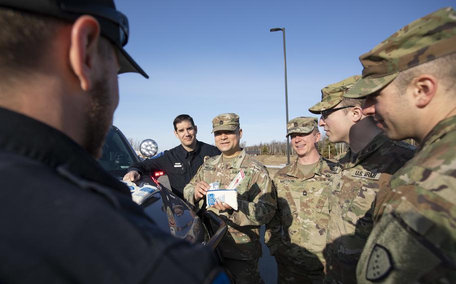
[[[52,168],[130,194],[128,187],[106,172],[79,144],[59,130],[29,116],[0,107],[0,151],[15,153]]]

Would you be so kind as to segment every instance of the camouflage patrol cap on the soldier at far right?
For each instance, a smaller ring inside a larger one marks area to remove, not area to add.
[[[456,52],[456,12],[439,9],[399,29],[361,55],[363,77],[345,93],[360,98],[382,89],[400,71]]]

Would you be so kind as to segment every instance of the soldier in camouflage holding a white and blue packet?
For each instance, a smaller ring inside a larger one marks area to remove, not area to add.
[[[209,183],[226,188],[240,170],[245,173],[238,185],[238,210],[217,201],[207,210],[224,218],[228,233],[219,244],[225,264],[236,283],[261,283],[258,260],[262,254],[260,226],[267,223],[277,207],[272,182],[266,168],[240,147],[242,129],[239,115],[223,113],[212,120],[215,145],[222,152],[201,165],[184,188],[184,198],[198,211],[203,208]]]

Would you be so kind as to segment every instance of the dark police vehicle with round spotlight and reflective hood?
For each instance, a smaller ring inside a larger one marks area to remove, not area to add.
[[[149,149],[147,155],[155,154],[156,143],[150,139],[145,140],[145,143],[142,143],[142,146]],[[155,152],[153,152],[153,148],[155,148]],[[121,180],[127,173],[128,167],[139,160],[124,134],[116,126],[111,126],[103,144],[102,156],[98,160],[101,166]],[[215,250],[225,236],[227,225],[221,218],[211,211],[206,211],[204,216],[213,224],[206,227],[190,206],[163,186],[156,179],[155,174],[144,174],[135,183],[138,187],[153,188],[151,194],[147,196],[147,199],[142,200],[140,206],[162,230],[192,243],[202,243],[212,250]],[[211,227],[218,229],[213,231]]]

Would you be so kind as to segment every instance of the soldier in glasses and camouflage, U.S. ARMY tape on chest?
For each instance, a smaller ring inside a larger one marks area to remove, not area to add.
[[[356,264],[372,230],[372,203],[391,175],[413,155],[413,147],[386,137],[372,117],[362,114],[363,99],[344,98],[361,76],[322,89],[322,100],[309,108],[321,113],[330,142],[346,142],[338,157],[329,198],[325,282],[353,283]]]

